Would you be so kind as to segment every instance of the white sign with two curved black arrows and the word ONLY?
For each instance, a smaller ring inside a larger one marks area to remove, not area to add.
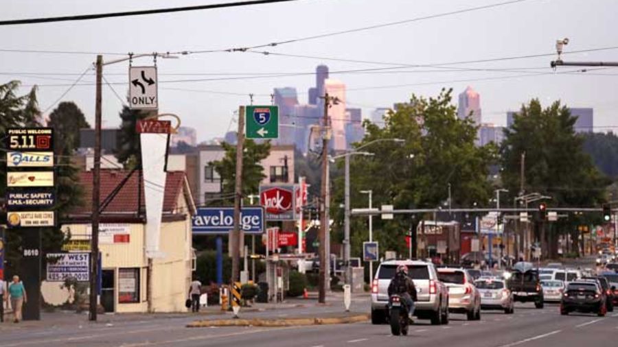
[[[134,110],[159,108],[157,67],[129,68],[129,105]]]

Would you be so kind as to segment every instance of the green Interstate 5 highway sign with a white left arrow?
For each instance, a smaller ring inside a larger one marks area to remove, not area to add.
[[[247,106],[244,116],[244,136],[247,139],[279,138],[277,106]]]

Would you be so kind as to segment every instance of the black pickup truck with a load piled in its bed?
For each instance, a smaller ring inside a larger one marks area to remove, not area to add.
[[[543,308],[543,289],[540,286],[538,269],[532,263],[516,263],[508,280],[508,287],[516,302],[534,302],[534,307]]]

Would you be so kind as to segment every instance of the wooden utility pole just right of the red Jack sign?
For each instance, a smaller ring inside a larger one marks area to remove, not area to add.
[[[328,233],[329,221],[328,213],[328,142],[330,140],[330,121],[328,119],[328,108],[330,108],[331,101],[334,104],[339,102],[339,98],[330,97],[328,93],[325,93],[321,99],[324,99],[324,117],[322,125],[322,178],[320,189],[320,235],[319,235],[319,254],[320,254],[320,276],[318,281],[319,294],[318,302],[326,302],[326,281],[328,278],[328,267],[330,266],[330,255],[326,249],[326,235]]]

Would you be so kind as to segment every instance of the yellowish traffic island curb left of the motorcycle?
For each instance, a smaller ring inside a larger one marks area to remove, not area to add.
[[[328,324],[353,324],[366,322],[369,315],[350,315],[347,317],[334,318],[290,318],[279,320],[198,320],[187,324],[187,328],[205,328],[211,326],[309,326],[309,325],[328,325]]]

